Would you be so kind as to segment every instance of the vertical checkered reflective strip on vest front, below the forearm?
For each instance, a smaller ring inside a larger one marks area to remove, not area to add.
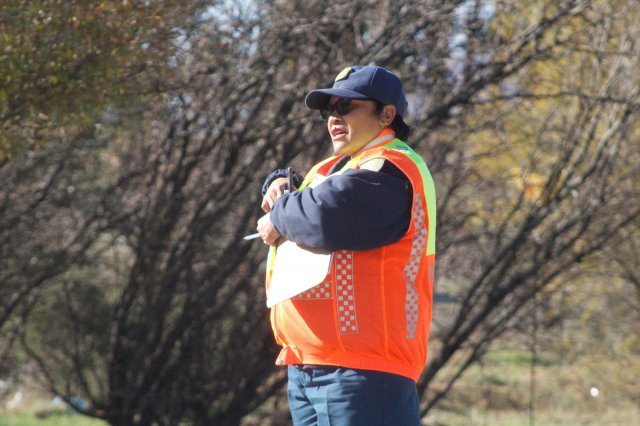
[[[340,334],[357,333],[358,320],[353,283],[353,252],[341,250],[335,252],[333,256]]]

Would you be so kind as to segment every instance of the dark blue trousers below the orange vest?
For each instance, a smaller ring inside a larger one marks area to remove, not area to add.
[[[380,371],[323,365],[289,366],[295,426],[419,426],[413,380]]]

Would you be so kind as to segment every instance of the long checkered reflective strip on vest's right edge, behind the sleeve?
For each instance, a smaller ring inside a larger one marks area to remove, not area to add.
[[[407,339],[414,339],[418,330],[418,290],[416,277],[420,268],[420,260],[427,249],[427,223],[425,219],[422,194],[416,194],[413,202],[413,223],[415,234],[411,246],[409,262],[404,267],[406,280],[405,314],[407,320]]]

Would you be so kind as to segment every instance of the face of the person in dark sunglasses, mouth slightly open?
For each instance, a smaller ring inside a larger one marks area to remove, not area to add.
[[[334,105],[340,98],[332,96],[329,104]],[[336,154],[353,155],[371,142],[383,126],[376,113],[373,101],[352,100],[351,110],[345,115],[333,112],[327,119],[327,129],[331,135]]]

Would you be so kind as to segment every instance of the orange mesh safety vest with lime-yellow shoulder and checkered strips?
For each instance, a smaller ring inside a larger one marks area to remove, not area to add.
[[[316,174],[326,176],[339,159],[314,166],[301,187]],[[365,149],[345,168],[372,159],[390,161],[409,178],[409,229],[393,244],[334,252],[320,284],[271,309],[273,332],[283,347],[277,365],[336,365],[417,381],[426,364],[435,267],[433,180],[420,156],[398,139]]]

